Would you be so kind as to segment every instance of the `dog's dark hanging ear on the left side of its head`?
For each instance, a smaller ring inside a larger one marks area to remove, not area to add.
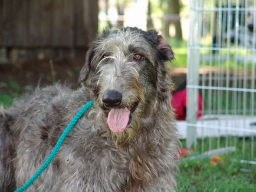
[[[84,67],[80,71],[79,80],[78,80],[79,83],[82,81],[86,81],[88,75],[90,74],[91,60],[93,59],[93,56],[94,56],[94,49],[93,47],[91,47],[90,49],[88,49],[86,53],[86,64],[84,64]]]

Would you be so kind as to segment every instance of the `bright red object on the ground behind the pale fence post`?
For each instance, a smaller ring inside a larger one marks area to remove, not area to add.
[[[186,119],[186,88],[172,94],[171,105],[178,120]],[[198,92],[198,118],[202,117],[202,96]]]

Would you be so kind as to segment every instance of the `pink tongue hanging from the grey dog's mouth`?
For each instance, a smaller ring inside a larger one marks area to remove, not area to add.
[[[107,117],[107,124],[114,133],[123,132],[129,121],[130,111],[127,108],[113,108]]]

